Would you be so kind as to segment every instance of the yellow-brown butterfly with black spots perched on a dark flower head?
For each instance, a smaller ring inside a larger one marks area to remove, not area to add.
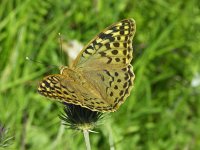
[[[60,74],[43,78],[38,92],[92,111],[113,112],[133,88],[133,19],[121,20],[99,33]]]

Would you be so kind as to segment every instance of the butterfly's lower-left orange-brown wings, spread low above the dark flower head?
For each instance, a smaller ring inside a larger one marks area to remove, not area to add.
[[[93,89],[90,90],[89,85],[81,85],[81,81],[68,80],[60,74],[45,77],[39,83],[38,92],[45,97],[80,105],[93,111],[112,111],[112,107],[102,100],[98,93],[95,94]]]

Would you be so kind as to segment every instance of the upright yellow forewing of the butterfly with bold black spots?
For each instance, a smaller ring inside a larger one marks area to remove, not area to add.
[[[136,31],[135,21],[125,19],[106,28],[83,48],[73,67],[125,66],[132,60],[132,39]]]

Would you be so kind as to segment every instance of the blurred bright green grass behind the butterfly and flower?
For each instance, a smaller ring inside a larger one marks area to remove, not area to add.
[[[1,0],[0,125],[6,149],[85,149],[81,132],[65,129],[60,106],[37,83],[60,65],[58,33],[86,44],[124,18],[137,24],[131,96],[91,133],[92,149],[200,149],[200,3],[198,0]],[[67,58],[67,55],[66,55]]]

